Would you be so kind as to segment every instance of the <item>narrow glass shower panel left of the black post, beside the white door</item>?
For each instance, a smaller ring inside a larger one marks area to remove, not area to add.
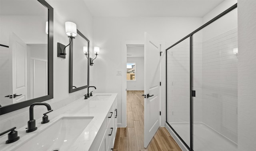
[[[166,52],[167,122],[190,148],[190,38]]]

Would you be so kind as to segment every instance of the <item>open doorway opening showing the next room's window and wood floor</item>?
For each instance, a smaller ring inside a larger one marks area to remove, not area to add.
[[[144,149],[144,45],[127,45],[126,69],[127,130],[136,136],[129,149]]]

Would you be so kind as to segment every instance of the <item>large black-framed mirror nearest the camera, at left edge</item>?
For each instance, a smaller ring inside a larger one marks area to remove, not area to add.
[[[3,115],[53,98],[53,8],[45,0],[1,0],[0,7]]]

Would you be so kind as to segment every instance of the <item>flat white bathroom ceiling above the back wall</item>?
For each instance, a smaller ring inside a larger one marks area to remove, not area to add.
[[[224,0],[84,0],[94,17],[203,17]]]

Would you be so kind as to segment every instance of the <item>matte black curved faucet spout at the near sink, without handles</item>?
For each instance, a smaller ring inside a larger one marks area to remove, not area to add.
[[[36,127],[36,120],[34,119],[34,106],[35,105],[44,105],[47,107],[48,111],[51,110],[51,106],[48,103],[33,103],[29,107],[29,121],[28,121],[28,129],[26,130],[27,133],[35,131]]]

